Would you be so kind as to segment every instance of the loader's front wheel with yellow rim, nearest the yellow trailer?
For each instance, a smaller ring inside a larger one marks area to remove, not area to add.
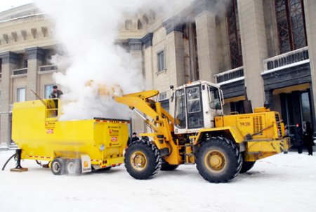
[[[133,178],[146,180],[158,173],[162,159],[155,145],[147,140],[137,140],[126,150],[124,163]]]

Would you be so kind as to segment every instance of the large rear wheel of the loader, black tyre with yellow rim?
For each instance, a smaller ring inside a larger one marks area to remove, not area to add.
[[[242,168],[242,156],[237,146],[226,138],[211,138],[197,150],[197,170],[211,183],[227,183]]]

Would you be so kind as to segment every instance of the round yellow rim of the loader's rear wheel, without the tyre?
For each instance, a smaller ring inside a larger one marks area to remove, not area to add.
[[[206,164],[206,168],[208,168],[209,171],[222,171],[226,166],[225,154],[218,150],[211,150],[206,153],[204,158],[204,164]]]

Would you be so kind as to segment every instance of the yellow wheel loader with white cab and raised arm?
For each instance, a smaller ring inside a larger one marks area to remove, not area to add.
[[[173,89],[173,116],[152,100],[158,94],[152,90],[114,96],[152,130],[142,133],[142,140],[131,143],[124,155],[133,178],[148,179],[159,170],[196,164],[205,180],[225,183],[249,171],[256,160],[289,149],[278,112],[258,107],[254,113],[224,115],[223,92],[216,84],[195,81]]]

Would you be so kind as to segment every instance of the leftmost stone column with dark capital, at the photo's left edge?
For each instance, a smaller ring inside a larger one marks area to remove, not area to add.
[[[18,55],[12,52],[1,53],[2,59],[2,73],[1,73],[1,117],[0,117],[0,144],[10,145],[11,143],[11,121],[10,117],[10,105],[12,104],[11,93],[11,75],[12,70],[17,68]]]

